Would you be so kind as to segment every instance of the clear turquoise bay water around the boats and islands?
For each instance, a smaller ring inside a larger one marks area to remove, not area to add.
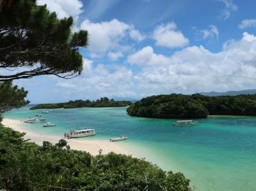
[[[28,107],[6,113],[26,119],[40,111]],[[42,114],[57,126],[26,124],[29,130],[62,135],[70,128],[90,126],[97,135],[81,139],[129,136],[118,142],[165,170],[181,171],[195,190],[256,190],[256,118],[213,116],[194,126],[172,126],[172,119],[136,118],[126,108],[52,109]]]

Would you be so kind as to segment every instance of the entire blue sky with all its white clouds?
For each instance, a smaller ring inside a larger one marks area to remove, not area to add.
[[[16,80],[31,103],[256,89],[256,1],[38,0],[88,30],[83,74]]]

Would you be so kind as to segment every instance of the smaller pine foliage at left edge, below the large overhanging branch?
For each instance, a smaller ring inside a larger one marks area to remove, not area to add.
[[[11,109],[17,109],[29,103],[25,100],[28,91],[13,86],[12,82],[0,82],[0,121],[1,114]]]

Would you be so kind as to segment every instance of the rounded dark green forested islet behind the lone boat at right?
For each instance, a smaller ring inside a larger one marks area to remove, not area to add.
[[[145,118],[206,118],[209,114],[200,100],[181,94],[143,98],[128,107],[127,113]]]

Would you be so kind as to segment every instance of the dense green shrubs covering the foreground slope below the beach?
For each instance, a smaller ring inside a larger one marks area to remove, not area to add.
[[[93,157],[70,149],[63,139],[38,146],[23,136],[0,124],[0,189],[192,190],[182,173],[164,172],[143,159],[115,153]]]

